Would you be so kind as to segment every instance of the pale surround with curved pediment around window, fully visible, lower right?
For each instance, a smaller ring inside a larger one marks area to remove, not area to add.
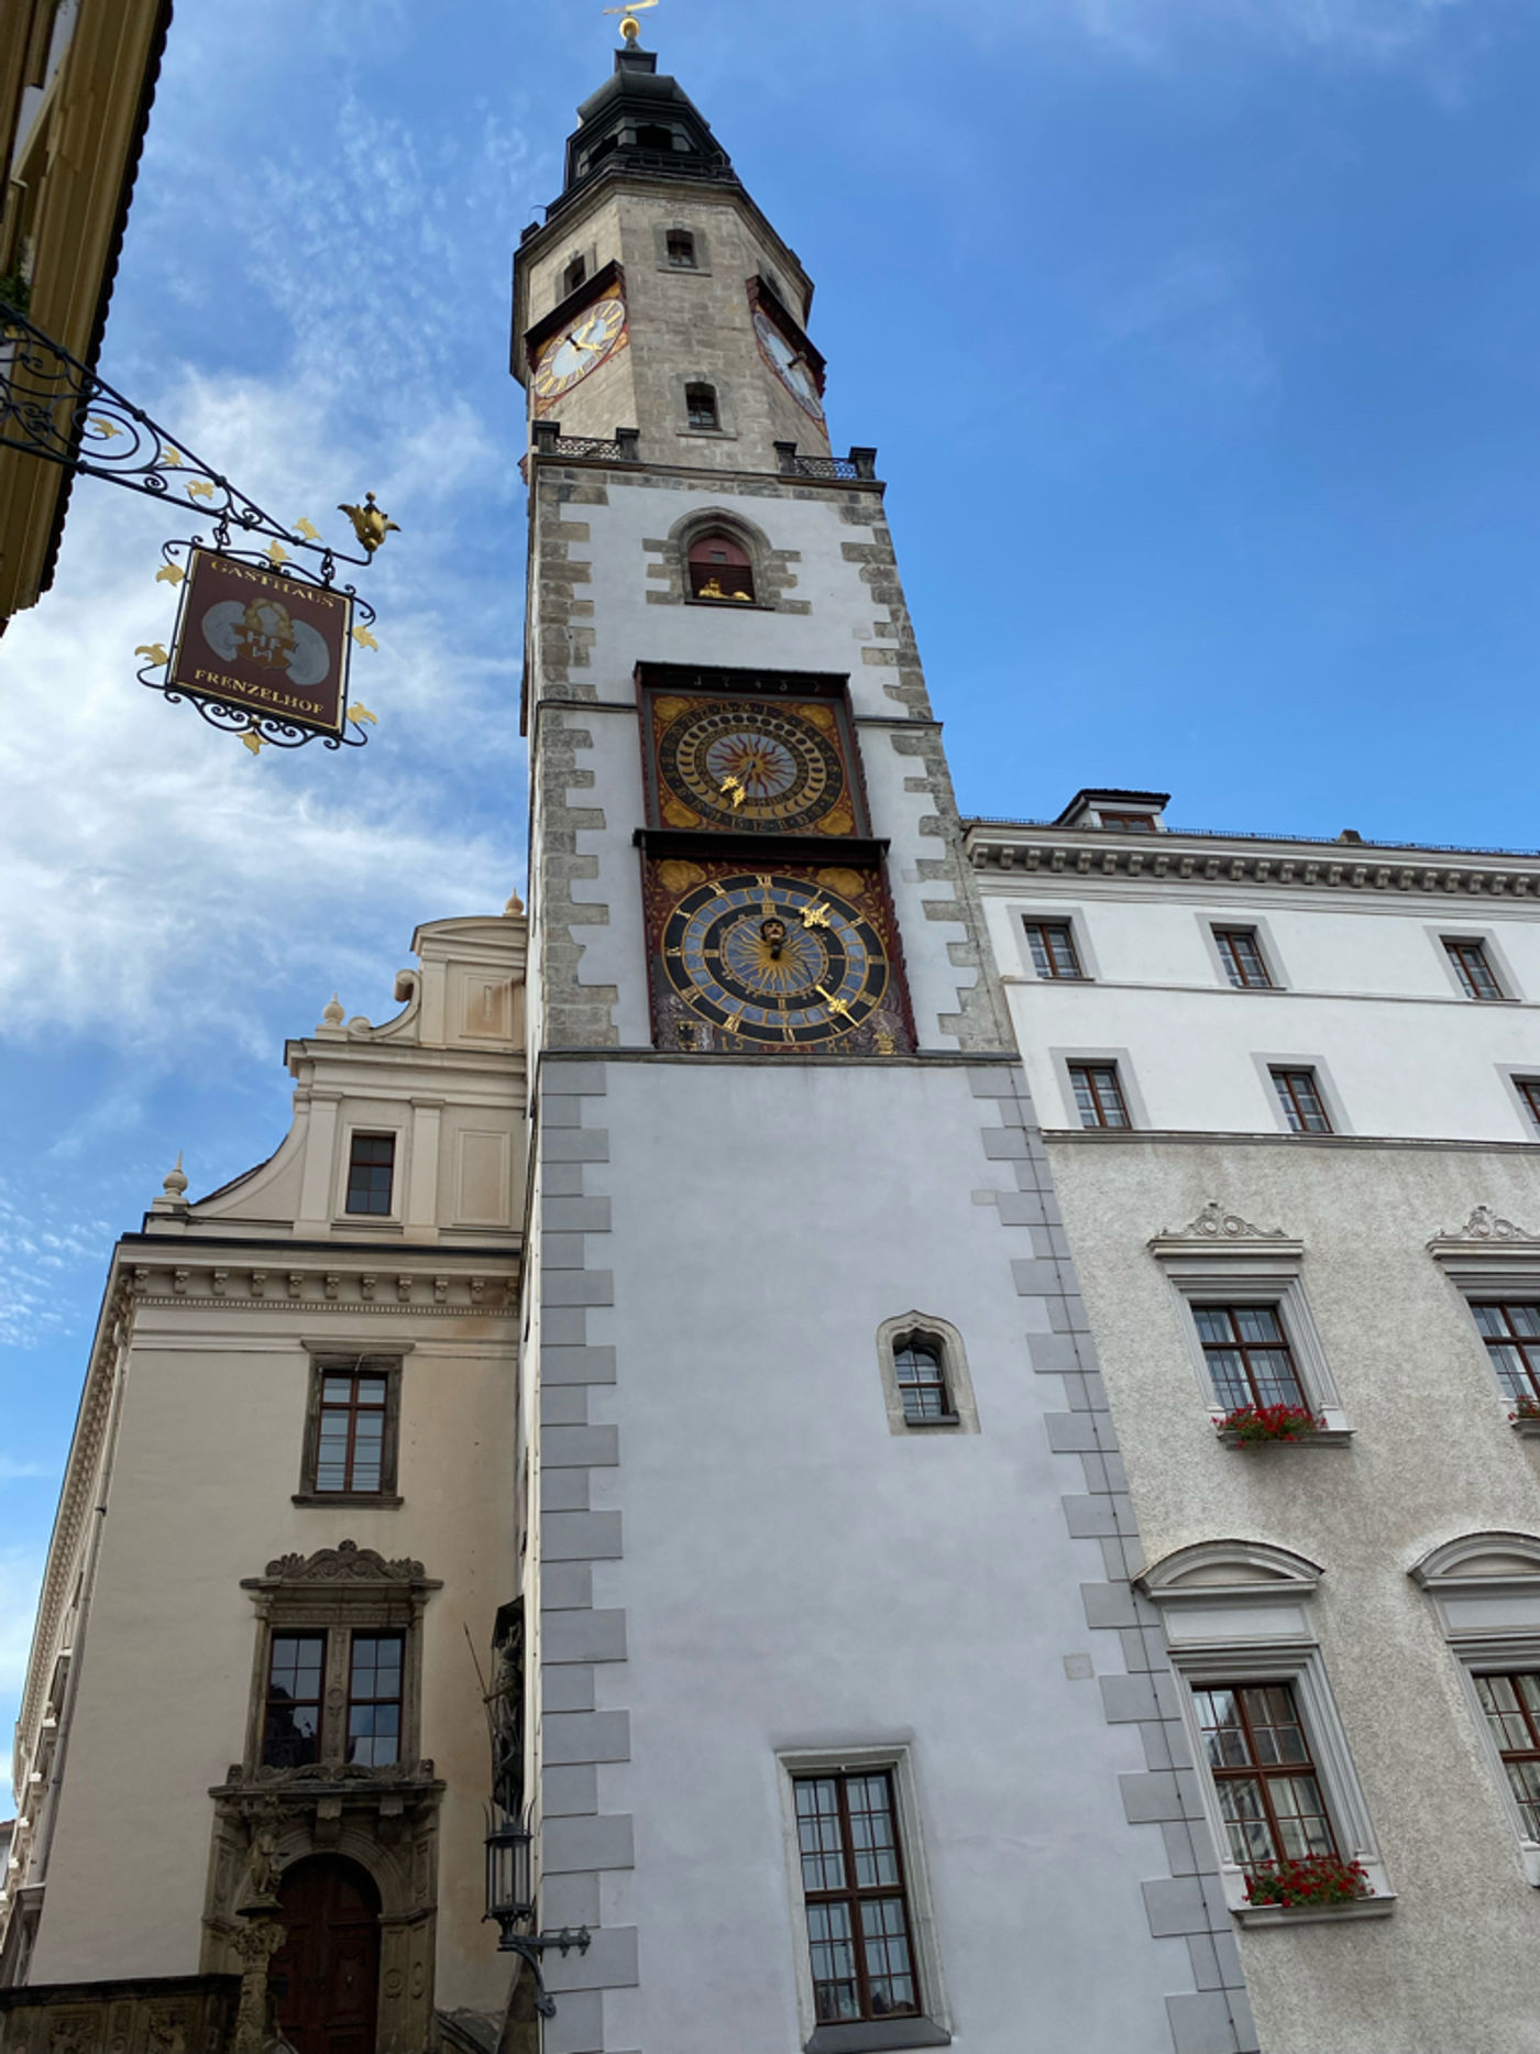
[[[1318,1582],[1318,1565],[1302,1555],[1244,1540],[1179,1549],[1140,1577],[1140,1588],[1162,1614],[1224,1902],[1236,1923],[1246,1927],[1384,1918],[1396,1902],[1310,1619]],[[1343,1861],[1363,1863],[1372,1892],[1363,1900],[1314,1908],[1246,1900],[1246,1871],[1230,1859],[1230,1836],[1218,1785],[1205,1766],[1193,1690],[1267,1682],[1294,1690],[1337,1849]]]

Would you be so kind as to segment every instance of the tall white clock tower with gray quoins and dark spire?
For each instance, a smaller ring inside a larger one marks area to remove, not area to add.
[[[546,1955],[544,2046],[1248,2048],[811,302],[628,43],[515,259],[534,1695],[499,1795],[542,1925],[593,1931]]]

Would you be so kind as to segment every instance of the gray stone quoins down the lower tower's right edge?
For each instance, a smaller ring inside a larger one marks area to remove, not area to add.
[[[1138,1725],[1144,1744],[1146,1768],[1119,1781],[1129,1824],[1160,1826],[1166,1875],[1142,1886],[1150,1935],[1187,1939],[1193,1988],[1166,1999],[1172,2046],[1177,2054],[1257,2054],[1160,1612],[1131,1584],[1144,1551],[1027,1076],[1016,1066],[988,1064],[971,1068],[969,1080],[986,1119],[988,1111],[996,1115],[981,1126],[984,1156],[1010,1163],[1016,1181],[1016,1191],[975,1195],[996,1204],[1002,1226],[1027,1234],[1031,1253],[1012,1255],[1010,1269],[1016,1292],[1037,1308],[1029,1356],[1039,1376],[1057,1376],[1064,1386],[1064,1409],[1045,1413],[1043,1423],[1053,1454],[1076,1465],[1060,1499],[1066,1530],[1096,1540],[1103,1555],[1105,1580],[1080,1586],[1086,1627],[1096,1637],[1092,1674],[1103,1717],[1109,1725]]]

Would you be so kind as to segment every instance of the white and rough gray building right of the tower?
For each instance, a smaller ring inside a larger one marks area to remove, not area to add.
[[[1164,803],[967,828],[1185,1729],[1129,1801],[1218,1851],[1269,2054],[1534,2048],[1540,861]],[[1285,1855],[1374,1894],[1253,1904]]]

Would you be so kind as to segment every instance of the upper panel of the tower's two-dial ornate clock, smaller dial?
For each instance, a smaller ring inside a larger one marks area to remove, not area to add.
[[[651,702],[659,817],[739,834],[852,834],[840,721],[825,700],[659,696]]]

